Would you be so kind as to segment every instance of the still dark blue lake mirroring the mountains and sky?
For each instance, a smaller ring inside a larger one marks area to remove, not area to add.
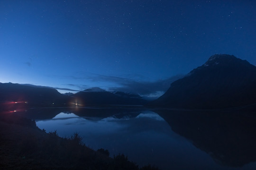
[[[94,150],[162,170],[255,170],[254,113],[141,109],[30,109],[46,132],[74,132]]]

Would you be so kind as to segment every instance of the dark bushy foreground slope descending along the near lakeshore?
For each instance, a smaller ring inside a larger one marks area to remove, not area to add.
[[[77,133],[61,138],[56,131],[39,129],[35,121],[0,112],[1,170],[158,170],[139,168],[123,154],[108,155],[102,148],[88,148]]]

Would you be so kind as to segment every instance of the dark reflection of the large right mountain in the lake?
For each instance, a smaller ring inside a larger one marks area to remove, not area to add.
[[[155,110],[193,145],[208,153],[214,161],[241,167],[256,161],[255,112]]]

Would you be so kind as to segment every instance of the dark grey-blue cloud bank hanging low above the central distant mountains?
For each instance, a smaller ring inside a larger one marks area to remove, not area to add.
[[[78,74],[77,74],[78,75]],[[137,93],[142,96],[160,96],[165,93],[170,85],[182,78],[184,75],[176,75],[166,79],[160,79],[157,81],[145,81],[146,77],[140,75],[128,75],[128,78],[119,77],[119,76],[105,76],[105,75],[97,75],[91,74],[89,75],[80,75],[80,76],[64,76],[65,78],[74,79],[74,80],[87,80],[87,82],[98,83],[99,85],[104,85],[101,87],[105,90],[109,91],[121,91],[127,93]],[[62,76],[63,77],[63,76]],[[137,80],[140,77],[140,80]],[[72,86],[73,91],[82,91],[86,88],[91,88],[92,86],[88,85],[76,85],[76,84],[66,84],[68,86]],[[59,88],[60,90],[72,90],[68,88]]]

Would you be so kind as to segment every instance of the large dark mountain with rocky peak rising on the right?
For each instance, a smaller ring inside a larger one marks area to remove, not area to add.
[[[217,109],[256,103],[256,67],[233,55],[215,54],[173,82],[154,107]]]

